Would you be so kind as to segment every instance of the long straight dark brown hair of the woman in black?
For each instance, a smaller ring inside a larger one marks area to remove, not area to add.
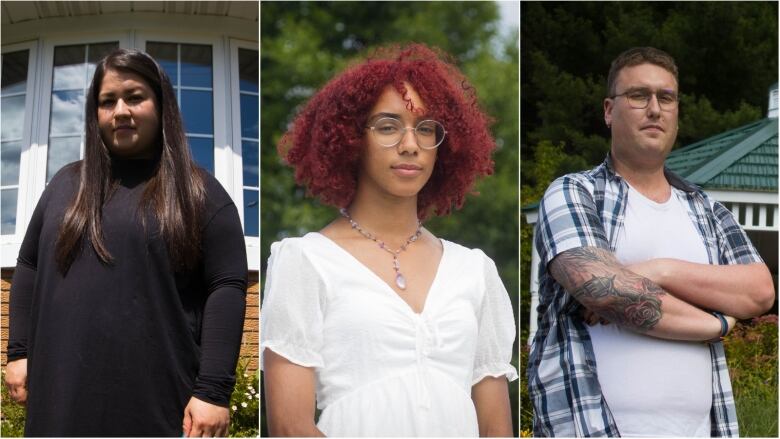
[[[116,181],[111,154],[98,127],[98,95],[107,70],[139,75],[154,91],[160,133],[157,139],[153,176],[146,184],[139,213],[151,212],[159,223],[174,270],[192,268],[200,257],[200,216],[205,204],[201,170],[195,165],[182,128],[181,114],[168,75],[149,55],[138,50],[118,49],[96,66],[86,96],[86,137],[79,188],[60,225],[56,244],[57,264],[64,274],[88,242],[104,264],[113,257],[103,240],[102,210]],[[86,242],[85,242],[86,239]]]

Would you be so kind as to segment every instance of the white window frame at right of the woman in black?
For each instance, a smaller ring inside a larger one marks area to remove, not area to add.
[[[239,71],[238,71],[238,49],[250,49],[258,51],[259,54],[259,47],[257,43],[251,42],[251,41],[245,41],[245,40],[237,40],[237,39],[230,39],[230,59],[228,65],[230,66],[230,96],[231,96],[231,103],[232,103],[232,109],[231,113],[235,115],[235,117],[232,118],[233,126],[232,126],[232,150],[224,150],[223,153],[225,155],[229,155],[229,157],[223,158],[225,162],[230,162],[232,164],[232,175],[233,175],[233,200],[236,203],[236,207],[238,207],[238,214],[241,217],[241,225],[244,225],[244,222],[246,219],[244,218],[244,162],[242,158],[242,149],[241,149],[241,99],[240,99],[240,93],[239,93]],[[258,61],[259,61],[258,56]],[[259,67],[259,66],[258,66]],[[259,70],[259,69],[258,69]],[[260,83],[258,78],[258,84]],[[257,105],[260,105],[260,93],[258,92],[258,99],[257,99]],[[257,114],[260,114],[260,109],[258,108]],[[260,148],[260,140],[258,139],[257,142],[258,149]],[[258,158],[259,158],[259,151],[258,151]],[[259,163],[258,163],[259,166]],[[259,169],[259,168],[258,168]],[[258,182],[259,183],[259,182]],[[260,202],[260,188],[258,184],[258,203]],[[260,206],[257,206],[258,209],[258,222],[260,218]],[[260,225],[258,224],[258,231],[260,230]],[[250,270],[260,270],[260,236],[246,236],[244,235],[244,242],[246,244],[246,254],[247,254],[247,263],[249,264]]]

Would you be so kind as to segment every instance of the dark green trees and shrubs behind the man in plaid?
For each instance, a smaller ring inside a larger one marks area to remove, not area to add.
[[[777,83],[777,13],[777,2],[522,2],[521,206],[538,202],[558,176],[604,160],[606,77],[612,59],[630,47],[654,46],[677,62],[675,147],[766,117],[769,87]],[[524,216],[520,233],[525,362],[533,228]],[[750,334],[774,325],[776,340],[776,318],[744,324]],[[732,367],[732,377],[743,436],[777,437],[777,344],[769,341],[756,345],[766,346],[760,353],[726,346],[730,366],[740,368],[735,374]],[[762,360],[749,361],[756,355]],[[520,375],[522,433],[529,434],[525,371]]]

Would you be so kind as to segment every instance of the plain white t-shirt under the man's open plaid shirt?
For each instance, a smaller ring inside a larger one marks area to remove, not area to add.
[[[684,195],[672,189],[668,201],[656,203],[629,187],[627,203],[615,252],[621,263],[654,258],[709,263]],[[588,329],[602,393],[621,436],[710,436],[707,345],[653,338],[614,324]]]

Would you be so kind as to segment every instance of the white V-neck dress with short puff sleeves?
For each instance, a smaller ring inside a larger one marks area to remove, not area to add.
[[[517,378],[514,316],[495,264],[442,244],[420,314],[322,234],[271,246],[261,365],[267,348],[314,368],[326,436],[478,436],[471,386]]]

